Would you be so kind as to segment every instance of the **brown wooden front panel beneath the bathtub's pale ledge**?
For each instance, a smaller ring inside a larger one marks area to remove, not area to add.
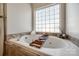
[[[47,54],[37,52],[28,47],[23,47],[12,42],[6,42],[6,56],[46,56]]]

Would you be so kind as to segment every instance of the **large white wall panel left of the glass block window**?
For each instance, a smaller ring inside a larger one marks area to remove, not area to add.
[[[7,4],[7,34],[30,32],[32,29],[31,5],[28,3]]]

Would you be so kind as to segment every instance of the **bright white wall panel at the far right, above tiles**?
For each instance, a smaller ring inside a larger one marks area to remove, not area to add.
[[[79,39],[79,3],[66,5],[66,31],[70,36]]]

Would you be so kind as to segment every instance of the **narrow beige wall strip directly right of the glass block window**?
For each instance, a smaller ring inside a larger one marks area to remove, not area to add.
[[[64,3],[61,3],[60,4],[60,31],[62,33],[65,33],[66,32],[66,4]]]

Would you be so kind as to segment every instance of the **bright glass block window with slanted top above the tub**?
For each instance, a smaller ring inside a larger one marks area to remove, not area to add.
[[[36,10],[36,32],[59,33],[59,4]]]

